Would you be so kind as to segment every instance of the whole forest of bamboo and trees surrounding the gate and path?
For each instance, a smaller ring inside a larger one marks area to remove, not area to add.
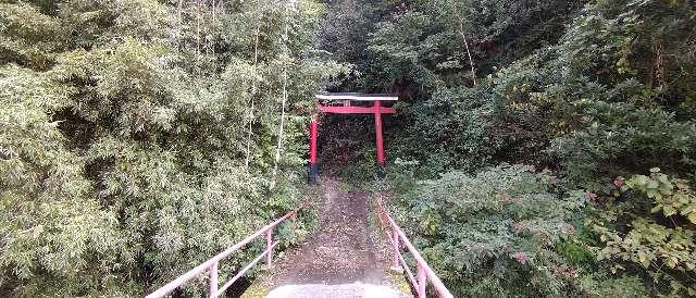
[[[385,169],[323,115],[320,172],[456,297],[696,297],[693,0],[0,0],[0,296],[141,297],[295,209],[322,91],[398,95]]]

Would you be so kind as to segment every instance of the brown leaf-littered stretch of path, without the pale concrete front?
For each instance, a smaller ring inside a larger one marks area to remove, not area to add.
[[[324,178],[324,206],[316,232],[276,263],[275,286],[290,284],[382,284],[385,268],[368,226],[368,194]]]

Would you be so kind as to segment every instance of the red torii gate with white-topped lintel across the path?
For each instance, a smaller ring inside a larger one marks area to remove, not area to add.
[[[383,107],[382,101],[397,101],[393,95],[381,94],[321,94],[314,96],[316,108],[324,113],[334,114],[374,114],[375,146],[377,148],[377,163],[384,166],[384,140],[382,138],[382,114],[394,114],[394,108]],[[372,101],[372,107],[355,105]],[[343,105],[331,105],[343,102]],[[313,115],[309,126],[309,181],[316,182],[316,136],[319,134],[319,117]]]

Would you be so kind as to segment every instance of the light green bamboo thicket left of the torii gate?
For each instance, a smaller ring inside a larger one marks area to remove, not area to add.
[[[298,206],[323,11],[0,1],[0,295],[140,296]]]

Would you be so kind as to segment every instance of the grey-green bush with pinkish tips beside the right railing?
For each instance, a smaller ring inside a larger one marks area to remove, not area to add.
[[[555,247],[573,237],[582,191],[557,194],[556,177],[499,165],[424,181],[403,199],[414,244],[456,296],[572,295],[576,270]]]

